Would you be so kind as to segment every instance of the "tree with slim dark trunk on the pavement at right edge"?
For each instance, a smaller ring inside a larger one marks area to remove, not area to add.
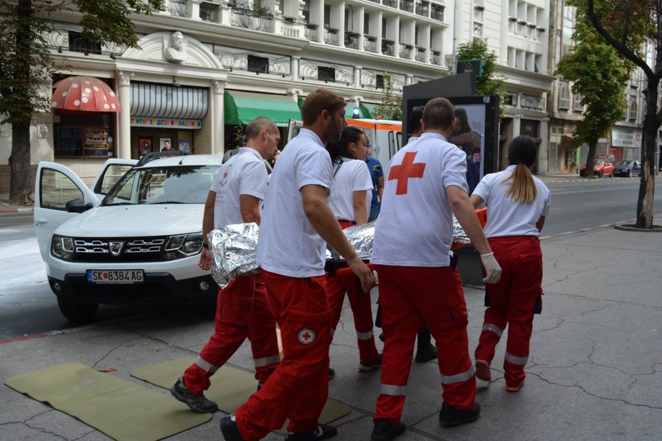
[[[570,0],[586,11],[588,20],[605,42],[643,70],[647,83],[643,112],[641,178],[635,227],[653,227],[655,143],[662,124],[659,85],[662,78],[662,0]],[[648,57],[645,46],[653,52]]]

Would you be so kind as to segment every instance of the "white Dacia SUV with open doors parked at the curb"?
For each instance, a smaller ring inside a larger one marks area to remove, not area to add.
[[[111,159],[91,189],[68,167],[39,163],[35,231],[62,314],[85,321],[99,303],[190,304],[215,296],[216,283],[197,263],[205,200],[221,161]]]

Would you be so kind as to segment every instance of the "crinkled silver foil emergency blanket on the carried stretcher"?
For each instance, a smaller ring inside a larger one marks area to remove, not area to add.
[[[359,258],[370,260],[374,238],[374,221],[354,225],[345,229],[344,232]],[[209,248],[212,252],[212,276],[219,287],[228,286],[237,276],[259,272],[255,259],[258,236],[259,227],[255,223],[226,225],[209,233]],[[470,243],[468,236],[455,216],[453,216],[453,243]],[[334,256],[327,249],[326,260],[333,260],[333,258]]]

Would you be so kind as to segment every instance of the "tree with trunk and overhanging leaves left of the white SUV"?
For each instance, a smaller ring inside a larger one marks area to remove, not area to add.
[[[0,123],[12,125],[10,201],[25,205],[30,193],[30,122],[48,111],[41,85],[65,68],[52,57],[48,17],[66,10],[81,14],[83,36],[97,43],[138,47],[129,14],[165,9],[165,0],[0,0]]]

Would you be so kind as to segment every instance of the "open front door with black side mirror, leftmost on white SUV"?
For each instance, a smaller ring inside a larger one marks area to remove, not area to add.
[[[57,227],[99,201],[101,198],[69,167],[46,161],[39,163],[34,183],[34,233],[44,260]]]

